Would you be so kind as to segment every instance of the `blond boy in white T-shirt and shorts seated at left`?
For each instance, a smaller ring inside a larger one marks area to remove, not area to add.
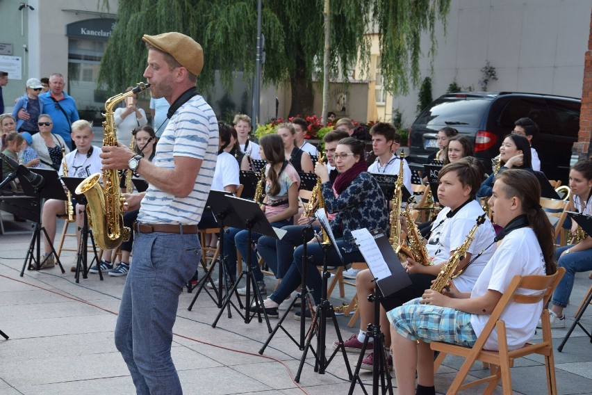
[[[58,170],[58,175],[63,177],[81,177],[85,178],[89,175],[101,171],[101,158],[99,154],[101,148],[92,145],[92,124],[85,120],[77,120],[72,123],[72,141],[76,144],[76,150],[70,152],[65,156],[65,167],[68,169],[68,174],[64,174],[63,167]],[[74,213],[83,212],[85,206],[77,204],[76,200],[72,200]],[[42,226],[47,231],[47,238],[42,238],[45,248],[45,259],[42,260],[40,268],[53,268],[56,257],[51,253],[51,243],[54,243],[56,237],[56,216],[66,213],[66,207],[63,200],[49,199],[43,204],[43,212],[41,217]],[[79,229],[83,226],[83,216],[76,215],[76,239],[80,245]],[[76,261],[71,267],[72,271],[76,271]]]

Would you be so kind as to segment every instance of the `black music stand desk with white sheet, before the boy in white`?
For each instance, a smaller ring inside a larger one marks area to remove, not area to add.
[[[352,231],[352,236],[370,268],[370,273],[377,279],[377,286],[384,298],[411,284],[409,274],[382,229],[357,229]],[[384,298],[381,299],[383,305]]]

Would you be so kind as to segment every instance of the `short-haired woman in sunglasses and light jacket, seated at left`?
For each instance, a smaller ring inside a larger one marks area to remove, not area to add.
[[[68,154],[70,149],[62,136],[51,133],[54,122],[49,115],[41,114],[38,119],[39,133],[33,135],[31,147],[38,153],[43,168],[58,170],[62,164],[62,150]]]

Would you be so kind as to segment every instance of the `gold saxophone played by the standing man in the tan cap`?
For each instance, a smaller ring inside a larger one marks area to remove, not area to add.
[[[138,83],[129,92],[120,93],[110,97],[105,102],[105,113],[103,116],[103,145],[117,145],[115,134],[115,123],[113,120],[113,108],[122,102],[126,97],[137,95],[146,90],[149,83]],[[113,250],[125,240],[129,239],[130,229],[123,225],[122,207],[125,202],[120,190],[120,174],[117,170],[103,170],[103,186],[99,184],[101,172],[86,177],[76,188],[76,194],[84,194],[88,204],[86,213],[88,224],[92,227],[94,241],[104,250]]]

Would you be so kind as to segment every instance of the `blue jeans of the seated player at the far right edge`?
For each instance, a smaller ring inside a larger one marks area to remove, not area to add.
[[[552,303],[561,307],[567,306],[571,290],[573,289],[575,273],[592,270],[592,249],[570,252],[560,258],[561,252],[564,252],[570,247],[573,247],[573,244],[565,245],[555,250],[557,266],[566,268],[566,274],[564,274],[564,277],[557,284],[552,298]]]

